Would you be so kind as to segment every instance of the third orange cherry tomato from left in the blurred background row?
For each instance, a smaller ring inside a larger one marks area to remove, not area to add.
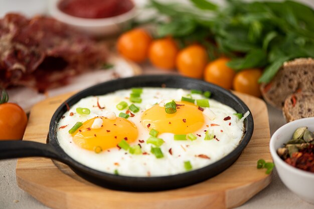
[[[207,64],[207,52],[200,45],[190,45],[178,53],[176,64],[182,75],[202,78]]]

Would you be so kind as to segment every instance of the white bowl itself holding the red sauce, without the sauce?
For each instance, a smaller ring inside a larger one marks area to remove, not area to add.
[[[49,13],[54,18],[70,26],[77,28],[92,36],[108,36],[121,32],[121,30],[137,15],[134,7],[117,16],[106,18],[82,18],[69,15],[58,7],[60,0],[49,0]]]

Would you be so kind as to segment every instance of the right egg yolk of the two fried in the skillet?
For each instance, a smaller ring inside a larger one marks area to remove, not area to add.
[[[187,134],[199,130],[204,124],[204,116],[198,106],[186,101],[176,103],[177,111],[173,114],[168,114],[165,107],[159,104],[145,110],[141,117],[142,124],[160,133]]]

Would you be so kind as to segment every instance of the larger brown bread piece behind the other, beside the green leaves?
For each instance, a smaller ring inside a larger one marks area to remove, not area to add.
[[[286,96],[297,91],[314,94],[314,59],[297,58],[285,62],[268,84],[261,84],[264,99],[281,109]]]

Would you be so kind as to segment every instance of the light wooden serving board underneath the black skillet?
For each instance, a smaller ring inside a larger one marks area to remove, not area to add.
[[[72,93],[36,104],[30,114],[24,140],[46,143],[55,109]],[[128,192],[103,188],[76,175],[67,165],[43,157],[21,158],[17,163],[18,185],[52,208],[230,208],[243,204],[271,180],[257,169],[269,153],[269,123],[264,101],[236,94],[248,105],[254,118],[253,136],[237,161],[227,170],[198,184],[158,192]]]

